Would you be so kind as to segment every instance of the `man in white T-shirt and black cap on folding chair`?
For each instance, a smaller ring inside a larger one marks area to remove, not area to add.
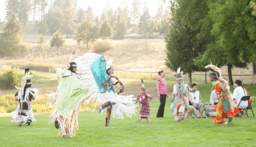
[[[249,93],[242,86],[242,81],[241,80],[236,80],[236,82],[234,83],[233,87],[235,88],[234,92],[233,92],[233,98],[234,98],[234,101],[237,102],[237,104],[234,104],[234,106],[235,106],[235,108],[237,108],[239,103],[240,103],[240,101],[241,101],[241,98],[243,96],[249,96]],[[247,106],[248,106],[248,101],[241,101],[241,103],[239,105],[239,108],[246,109]],[[244,113],[242,113],[242,115],[243,115],[243,117],[247,117]]]

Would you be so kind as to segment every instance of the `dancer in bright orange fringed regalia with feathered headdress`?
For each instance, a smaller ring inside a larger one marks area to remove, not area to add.
[[[220,98],[216,108],[212,110],[216,110],[216,117],[210,119],[215,119],[215,124],[227,124],[223,118],[229,118],[228,122],[231,122],[240,110],[238,110],[239,108],[234,110],[233,96],[229,91],[228,82],[221,77],[221,69],[212,64],[205,66],[205,68],[209,69],[209,79],[212,79],[217,98]]]

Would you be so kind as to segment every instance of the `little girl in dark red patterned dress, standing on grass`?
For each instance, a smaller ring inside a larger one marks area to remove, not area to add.
[[[140,88],[140,95],[138,95],[136,102],[141,103],[142,107],[140,109],[139,119],[135,120],[135,122],[140,122],[141,118],[146,118],[147,121],[150,122],[150,108],[148,102],[152,100],[152,96],[146,94],[145,91],[145,87]]]

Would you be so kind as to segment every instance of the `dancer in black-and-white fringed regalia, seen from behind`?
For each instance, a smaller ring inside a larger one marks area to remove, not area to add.
[[[21,88],[16,87],[18,92],[15,94],[15,100],[18,102],[17,108],[12,112],[12,122],[16,122],[18,126],[25,123],[29,126],[32,121],[36,121],[33,114],[33,100],[38,93],[38,89],[31,88],[32,77],[29,75],[29,68],[25,69],[25,76],[21,79]]]

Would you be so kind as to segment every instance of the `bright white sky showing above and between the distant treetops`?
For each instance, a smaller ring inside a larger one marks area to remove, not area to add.
[[[6,12],[4,10],[5,8],[5,1],[6,0],[0,0],[0,21],[3,22],[4,18],[6,17]],[[132,7],[132,1],[133,0],[77,0],[78,5],[83,9],[86,10],[88,6],[92,6],[94,16],[100,16],[102,13],[102,10],[107,7],[108,1],[109,1],[109,7],[112,8],[113,11],[116,10],[116,8],[119,6],[123,8],[125,5],[128,5],[129,10],[131,10]],[[140,0],[142,4],[142,8],[144,7],[144,3],[148,5],[150,15],[155,15],[157,9],[162,5],[164,10],[170,6],[169,0],[166,0],[164,2],[163,0]],[[48,0],[48,5],[50,5],[51,0]],[[49,9],[49,6],[47,7],[47,10]],[[31,20],[31,16],[29,16],[29,20]]]

